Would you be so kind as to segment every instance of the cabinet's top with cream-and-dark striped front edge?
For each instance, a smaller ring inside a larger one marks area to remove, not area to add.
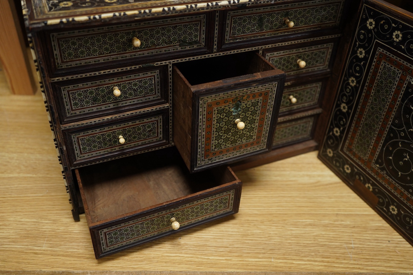
[[[344,2],[344,0],[93,0],[85,5],[74,0],[21,0],[29,29],[76,23],[121,22],[138,18],[223,10],[235,7],[302,2]]]

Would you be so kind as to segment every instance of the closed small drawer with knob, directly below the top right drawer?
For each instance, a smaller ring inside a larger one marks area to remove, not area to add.
[[[323,43],[325,42],[325,43]],[[293,48],[283,46],[264,49],[262,55],[287,76],[304,73],[330,72],[337,40],[318,41],[315,45],[298,43]],[[304,61],[304,63],[302,62]]]

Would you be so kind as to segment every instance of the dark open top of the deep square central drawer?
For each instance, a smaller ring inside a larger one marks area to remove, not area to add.
[[[178,63],[176,67],[192,86],[234,77],[250,77],[251,74],[274,69],[262,62],[255,52],[192,60]]]

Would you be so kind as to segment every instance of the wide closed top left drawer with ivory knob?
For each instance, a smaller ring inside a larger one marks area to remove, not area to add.
[[[53,51],[52,70],[74,71],[88,65],[95,69],[103,66],[100,63],[125,59],[144,64],[175,58],[179,51],[186,55],[207,53],[209,17],[199,14],[46,33]]]

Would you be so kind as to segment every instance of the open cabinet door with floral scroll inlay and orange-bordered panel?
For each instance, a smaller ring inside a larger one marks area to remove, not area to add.
[[[364,5],[320,158],[413,239],[413,28]]]

